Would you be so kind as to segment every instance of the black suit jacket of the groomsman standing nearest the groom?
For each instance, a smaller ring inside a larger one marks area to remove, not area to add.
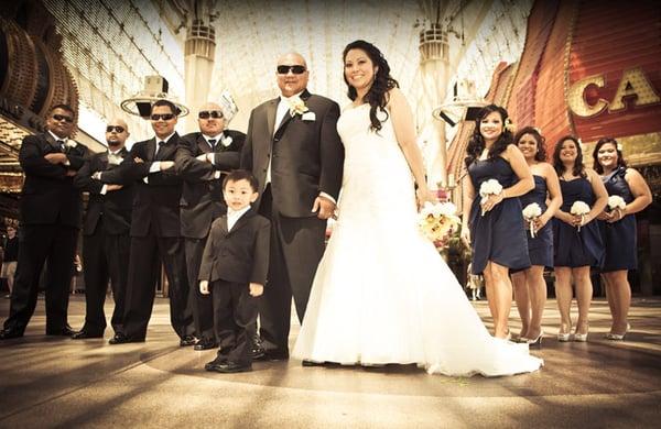
[[[214,164],[196,160],[196,156],[212,152],[202,133],[186,134],[178,142],[175,168],[184,180],[180,204],[183,237],[204,239],[209,233],[212,221],[227,211],[223,199],[225,175],[219,179],[214,176],[217,170],[239,167],[246,134],[232,130],[225,130],[224,134],[231,138],[231,143],[227,147],[216,143]]]

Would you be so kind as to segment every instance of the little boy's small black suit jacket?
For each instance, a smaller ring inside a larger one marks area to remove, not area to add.
[[[201,280],[266,285],[269,272],[271,223],[248,210],[227,232],[227,215],[212,223],[204,248]]]

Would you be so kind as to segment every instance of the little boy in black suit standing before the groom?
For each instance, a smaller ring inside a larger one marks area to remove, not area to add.
[[[269,271],[271,223],[250,208],[258,183],[247,170],[234,170],[223,182],[227,215],[212,223],[199,267],[199,292],[212,294],[218,355],[207,371],[252,370],[252,336],[257,297]]]

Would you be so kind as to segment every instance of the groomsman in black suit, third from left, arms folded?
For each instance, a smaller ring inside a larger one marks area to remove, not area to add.
[[[188,282],[178,207],[182,178],[174,169],[180,142],[174,130],[178,113],[178,108],[169,100],[154,102],[150,119],[155,136],[133,144],[118,168],[94,176],[105,184],[134,183],[126,309],[122,328],[110,339],[110,344],[144,341],[161,262],[170,285],[170,320],[180,345],[195,343],[193,317],[186,312]]]

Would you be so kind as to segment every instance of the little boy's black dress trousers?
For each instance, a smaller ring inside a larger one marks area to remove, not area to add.
[[[257,301],[247,283],[212,282],[214,328],[218,358],[239,364],[252,362],[252,336],[257,321]]]

